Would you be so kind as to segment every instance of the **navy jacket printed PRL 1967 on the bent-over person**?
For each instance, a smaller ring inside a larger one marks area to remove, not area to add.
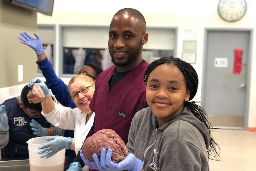
[[[5,100],[5,110],[8,116],[9,124],[9,143],[4,148],[4,158],[14,159],[28,157],[27,140],[38,137],[33,134],[29,123],[32,118],[19,107],[17,98]],[[36,120],[42,127],[49,128],[51,124],[45,117],[41,116]]]

